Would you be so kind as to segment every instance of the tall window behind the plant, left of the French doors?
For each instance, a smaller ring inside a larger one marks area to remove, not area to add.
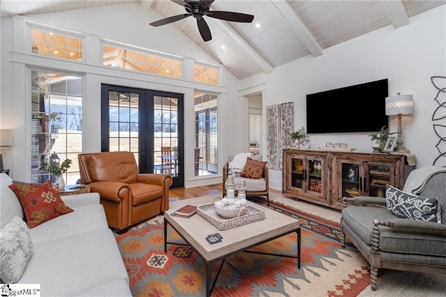
[[[31,182],[56,181],[40,167],[72,160],[67,185],[79,179],[82,152],[82,77],[31,71]]]

